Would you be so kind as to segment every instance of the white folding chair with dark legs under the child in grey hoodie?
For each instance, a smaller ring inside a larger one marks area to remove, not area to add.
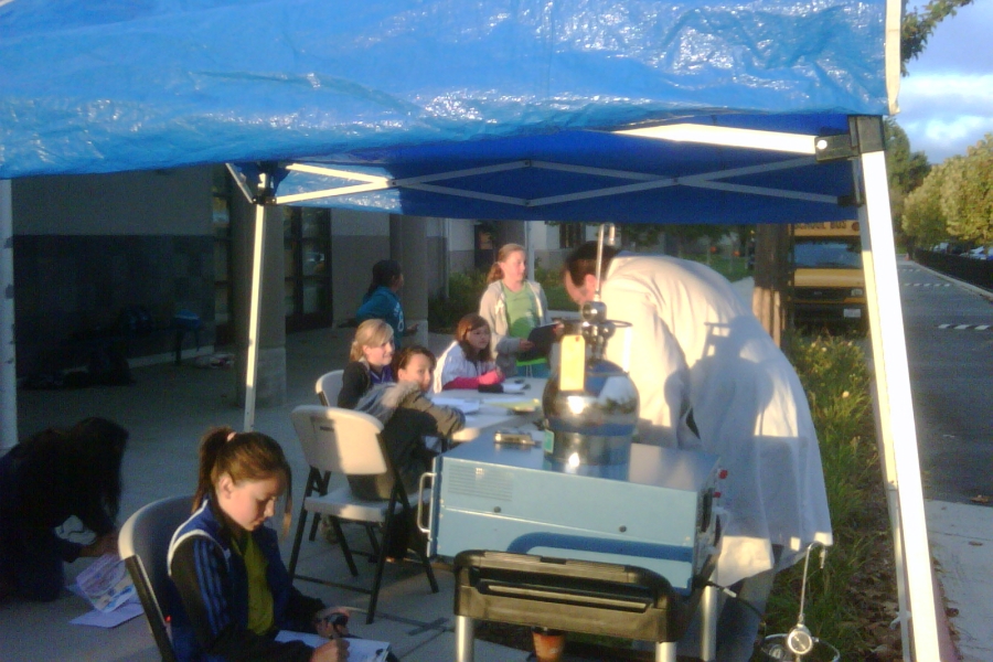
[[[305,494],[303,504],[300,508],[300,521],[297,524],[297,534],[288,568],[290,577],[298,577],[306,581],[341,586],[323,579],[296,575],[297,558],[303,537],[307,513],[330,515],[334,533],[338,536],[342,553],[353,576],[357,575],[359,570],[352,559],[351,549],[341,531],[339,520],[360,522],[366,525],[382,525],[384,534],[382,543],[377,546],[376,575],[373,579],[372,590],[369,591],[371,599],[365,622],[371,623],[375,617],[380,586],[383,579],[383,568],[386,564],[386,551],[389,548],[389,536],[393,531],[391,524],[394,517],[409,516],[413,512],[403,481],[399,480],[395,468],[383,451],[378,437],[383,430],[383,425],[369,414],[338,407],[302,405],[293,409],[290,417],[293,421],[293,428],[297,430],[297,437],[300,439],[303,448],[303,457],[307,459],[307,463],[310,465],[311,477],[316,472],[318,476],[324,476],[328,472],[339,472],[345,476],[378,476],[386,471],[393,474],[393,490],[388,501],[359,499],[348,485],[328,492],[327,482],[324,483],[323,493],[314,494],[310,493],[309,483],[311,481],[308,481],[308,493]],[[415,548],[420,559],[420,565],[427,574],[431,592],[438,592],[438,583],[435,579],[435,573],[426,554],[427,541],[416,527],[414,527],[412,535],[417,537]],[[355,590],[352,586],[345,586],[345,588]]]

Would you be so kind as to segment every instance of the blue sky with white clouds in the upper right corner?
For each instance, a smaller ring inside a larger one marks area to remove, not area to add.
[[[993,0],[941,21],[907,71],[896,120],[911,150],[940,163],[993,132]]]

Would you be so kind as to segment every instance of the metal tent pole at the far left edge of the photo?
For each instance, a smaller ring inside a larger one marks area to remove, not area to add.
[[[13,305],[13,201],[10,180],[0,180],[0,455],[18,442]]]

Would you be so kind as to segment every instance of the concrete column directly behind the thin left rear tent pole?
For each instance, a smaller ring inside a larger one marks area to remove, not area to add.
[[[252,253],[255,238],[255,205],[244,196],[232,199],[231,250],[234,260],[232,317],[237,348],[238,404],[245,405],[245,373],[248,359],[248,312],[252,297]],[[286,403],[286,313],[284,311],[282,207],[266,209],[266,252],[263,263],[263,292],[259,310],[258,386],[256,406]]]

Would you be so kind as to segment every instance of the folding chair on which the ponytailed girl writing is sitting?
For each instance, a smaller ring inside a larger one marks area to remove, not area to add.
[[[189,519],[192,503],[192,494],[149,503],[128,517],[117,540],[162,662],[175,662],[175,651],[166,628],[166,617],[170,616],[170,606],[164,599],[170,581],[169,542],[180,524]]]

